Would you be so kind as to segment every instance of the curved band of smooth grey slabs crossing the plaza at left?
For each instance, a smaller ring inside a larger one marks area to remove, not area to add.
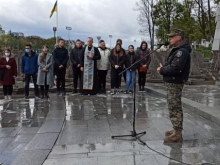
[[[46,120],[38,133],[25,147],[25,150],[12,162],[12,165],[42,165],[52,151],[65,123],[66,110],[63,109],[65,108],[65,101],[63,100],[61,103],[59,96],[51,95],[50,99],[51,106]]]

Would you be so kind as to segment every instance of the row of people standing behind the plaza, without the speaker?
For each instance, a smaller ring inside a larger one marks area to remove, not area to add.
[[[63,39],[59,39],[52,54],[47,45],[42,47],[42,52],[38,55],[32,50],[31,44],[27,44],[20,61],[21,77],[25,81],[25,98],[29,98],[31,79],[34,84],[35,97],[49,98],[48,92],[49,88],[54,85],[54,77],[56,77],[57,95],[64,96],[66,94],[65,75],[69,60],[73,70],[73,93],[80,92],[83,95],[105,94],[109,70],[112,95],[122,91],[122,75],[125,80],[124,93],[132,93],[137,73],[139,90],[144,91],[147,69],[151,61],[150,56],[148,56],[149,53],[148,44],[145,41],[141,43],[137,51],[134,50],[133,45],[130,45],[126,53],[125,49],[122,48],[121,39],[117,40],[112,50],[106,47],[103,40],[99,42],[98,48],[93,46],[93,38],[91,37],[87,39],[87,45],[84,47],[80,40],[76,40],[70,56],[64,46]],[[141,62],[133,65],[144,56],[146,57]],[[125,71],[131,65],[133,66]],[[10,49],[6,49],[0,59],[0,71],[4,99],[10,100],[17,77],[17,64]],[[124,74],[120,74],[123,71]]]

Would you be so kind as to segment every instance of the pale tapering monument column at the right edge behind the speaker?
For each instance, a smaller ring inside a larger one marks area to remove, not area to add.
[[[212,45],[213,51],[219,51],[220,50],[220,2],[218,5],[217,13],[216,13],[216,30],[215,30],[215,37]]]

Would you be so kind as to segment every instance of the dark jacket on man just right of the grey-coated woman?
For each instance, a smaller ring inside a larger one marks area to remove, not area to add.
[[[55,68],[58,68],[60,65],[63,65],[63,67],[66,68],[69,60],[68,50],[64,47],[57,47],[53,52],[53,59]]]

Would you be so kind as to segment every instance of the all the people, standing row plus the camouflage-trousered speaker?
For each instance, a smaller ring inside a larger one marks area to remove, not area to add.
[[[169,116],[173,130],[165,132],[164,142],[181,142],[183,130],[182,90],[188,81],[190,73],[192,51],[191,46],[185,39],[184,31],[173,29],[169,37],[170,46],[173,49],[164,65],[157,68],[158,74],[163,76],[167,87],[167,102]],[[139,61],[139,59],[143,59]],[[29,97],[29,85],[32,78],[36,97],[49,98],[49,87],[54,85],[54,76],[57,77],[57,94],[65,95],[65,75],[69,55],[64,47],[64,40],[60,39],[58,46],[49,53],[48,46],[44,45],[42,53],[37,55],[32,51],[30,44],[25,47],[25,53],[21,60],[21,76],[25,78],[25,98]],[[115,47],[109,50],[103,40],[99,48],[93,46],[91,37],[87,45],[82,46],[80,40],[76,41],[75,48],[70,53],[73,68],[73,93],[81,92],[84,95],[106,93],[106,76],[110,70],[111,94],[115,95],[121,90],[122,72],[125,79],[126,94],[132,93],[138,72],[139,90],[144,91],[146,74],[150,65],[150,52],[145,41],[137,51],[134,46],[128,47],[128,53],[122,48],[122,40],[118,39]],[[3,85],[5,99],[11,99],[13,85],[17,77],[17,64],[10,49],[4,51],[0,59],[0,83]],[[80,81],[80,85],[78,84]],[[40,94],[38,86],[40,86]]]

